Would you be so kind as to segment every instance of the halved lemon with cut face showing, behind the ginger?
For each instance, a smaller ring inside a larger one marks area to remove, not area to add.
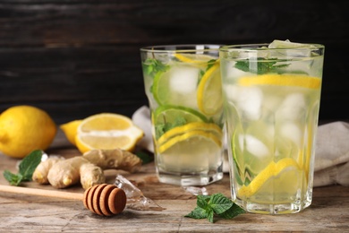
[[[81,153],[94,149],[133,151],[143,134],[129,117],[101,113],[82,120],[75,142]]]

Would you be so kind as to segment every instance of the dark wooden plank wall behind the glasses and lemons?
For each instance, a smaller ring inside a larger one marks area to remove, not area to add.
[[[146,105],[142,46],[290,39],[326,46],[320,120],[348,119],[349,1],[0,0],[0,112],[57,124]]]

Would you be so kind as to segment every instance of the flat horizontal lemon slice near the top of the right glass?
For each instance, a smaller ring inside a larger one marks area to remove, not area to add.
[[[297,74],[262,74],[243,77],[239,79],[238,83],[242,86],[275,85],[319,89],[321,86],[321,79]]]

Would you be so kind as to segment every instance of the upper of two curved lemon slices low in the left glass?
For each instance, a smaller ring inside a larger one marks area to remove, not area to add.
[[[217,142],[221,143],[221,138],[223,136],[222,130],[215,124],[211,123],[203,123],[203,122],[192,122],[186,125],[175,127],[169,131],[167,131],[165,134],[163,134],[161,137],[158,138],[157,144],[161,145],[165,142],[168,142],[172,138],[179,136],[181,134],[187,134],[191,131],[200,131],[204,133],[209,133],[217,136]]]

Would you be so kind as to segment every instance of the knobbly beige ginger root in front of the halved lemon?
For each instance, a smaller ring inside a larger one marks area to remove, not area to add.
[[[128,151],[92,150],[82,156],[67,160],[49,158],[35,169],[32,179],[39,184],[51,184],[55,188],[65,188],[81,182],[84,189],[106,182],[104,169],[123,169],[136,172],[141,160]]]

